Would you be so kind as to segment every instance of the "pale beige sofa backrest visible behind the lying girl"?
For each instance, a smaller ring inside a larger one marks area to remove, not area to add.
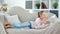
[[[9,9],[9,12],[7,12],[10,15],[17,14],[19,16],[19,19],[21,22],[25,22],[27,20],[34,21],[36,18],[38,18],[38,12],[29,13],[29,11],[19,7],[15,6]],[[47,13],[48,17],[53,16],[52,13]]]

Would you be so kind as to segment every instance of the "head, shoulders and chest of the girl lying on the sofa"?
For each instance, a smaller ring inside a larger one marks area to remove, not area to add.
[[[42,24],[47,24],[48,21],[45,18],[46,18],[46,13],[44,11],[38,12],[38,18],[35,20],[35,24],[37,26],[40,26]]]

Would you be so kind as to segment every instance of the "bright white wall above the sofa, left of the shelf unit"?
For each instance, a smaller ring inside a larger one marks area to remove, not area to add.
[[[25,0],[5,0],[4,2],[8,4],[8,9],[13,6],[25,8]]]

